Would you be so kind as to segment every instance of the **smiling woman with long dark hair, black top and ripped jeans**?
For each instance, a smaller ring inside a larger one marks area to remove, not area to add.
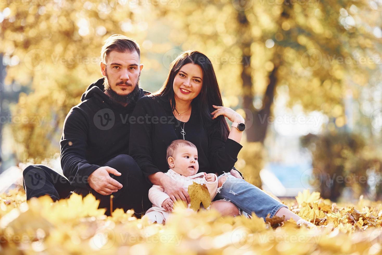
[[[229,129],[228,118],[233,124]],[[189,201],[187,190],[172,182],[166,149],[173,140],[185,139],[196,145],[199,173],[216,173],[219,192],[211,208],[222,215],[256,213],[285,215],[308,224],[261,189],[246,182],[234,168],[240,145],[244,118],[223,107],[219,85],[211,61],[197,51],[181,53],[170,66],[170,73],[157,92],[142,97],[131,119],[129,155],[152,184],[163,186],[175,200]]]

